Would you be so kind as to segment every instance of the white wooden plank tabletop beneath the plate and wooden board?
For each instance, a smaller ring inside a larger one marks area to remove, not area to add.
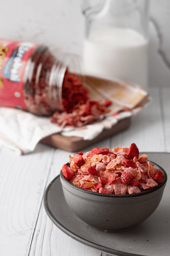
[[[128,129],[82,151],[136,143],[141,152],[170,152],[170,88],[148,91],[152,104]],[[0,146],[0,256],[107,255],[60,231],[44,210],[44,191],[69,154],[39,143],[33,153],[17,156]]]

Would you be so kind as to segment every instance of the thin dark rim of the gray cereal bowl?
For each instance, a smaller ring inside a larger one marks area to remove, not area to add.
[[[150,161],[150,160],[147,160],[147,161]],[[74,188],[76,190],[79,190],[82,193],[87,193],[87,194],[90,194],[90,195],[113,197],[113,198],[116,198],[116,197],[124,198],[124,197],[142,196],[142,195],[147,195],[147,194],[150,194],[150,193],[154,193],[156,190],[159,190],[161,187],[163,187],[164,184],[167,182],[167,173],[166,173],[166,171],[160,165],[156,164],[155,162],[153,162],[153,161],[150,161],[150,162],[154,163],[154,165],[156,165],[160,169],[160,171],[164,172],[164,180],[163,180],[163,182],[159,183],[158,186],[156,186],[156,187],[154,187],[154,188],[152,188],[150,190],[146,190],[146,191],[140,192],[140,193],[125,194],[125,195],[112,195],[112,194],[96,193],[96,192],[93,192],[93,191],[85,190],[85,189],[83,189],[81,187],[77,187],[74,184],[70,183],[69,180],[67,180],[63,176],[62,170],[60,170],[60,179],[62,179],[63,182],[68,184],[70,187],[72,187],[72,188]],[[66,165],[69,165],[69,162],[67,162]]]

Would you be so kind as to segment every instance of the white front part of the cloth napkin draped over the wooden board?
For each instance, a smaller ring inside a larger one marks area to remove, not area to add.
[[[85,129],[61,129],[52,124],[49,118],[38,117],[19,109],[0,107],[0,143],[13,149],[17,154],[27,154],[34,151],[41,139],[54,133],[92,140],[103,129],[110,129],[120,119],[129,116],[132,116],[131,112],[122,112],[118,116],[108,116],[95,124],[89,124]]]

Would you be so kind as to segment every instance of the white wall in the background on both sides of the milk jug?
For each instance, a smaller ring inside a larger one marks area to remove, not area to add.
[[[151,0],[149,86],[169,87],[170,1]],[[81,0],[1,2],[0,37],[43,43],[82,56],[85,18]]]

